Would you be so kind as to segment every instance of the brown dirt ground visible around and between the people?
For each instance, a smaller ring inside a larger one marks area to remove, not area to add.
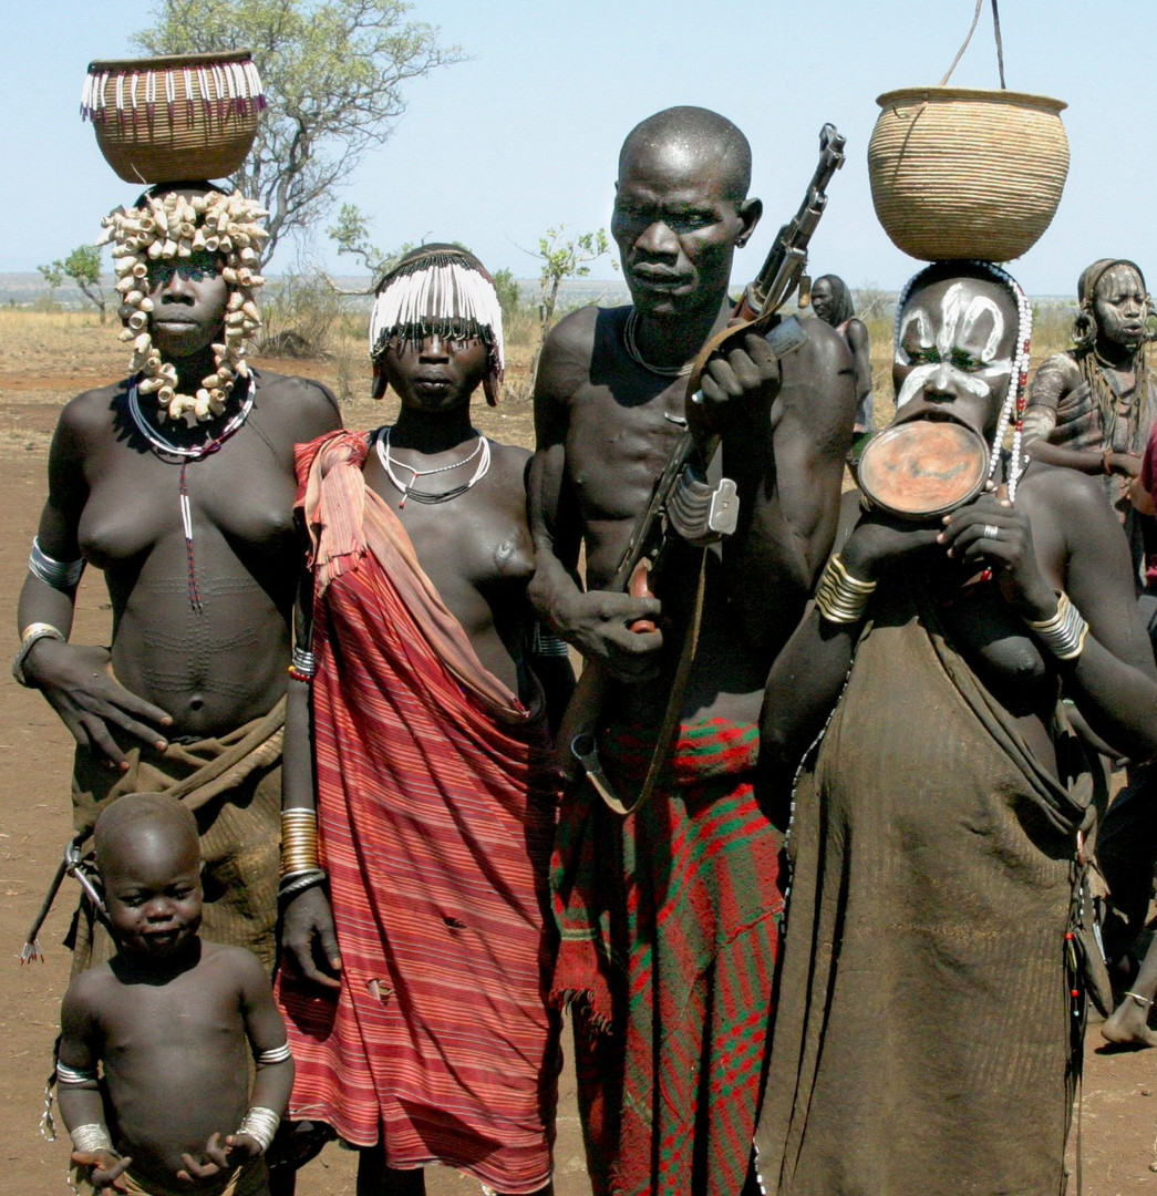
[[[0,319],[0,509],[7,512],[0,537],[0,609],[13,628],[17,593],[29,544],[44,499],[49,438],[60,407],[78,391],[103,384],[124,368],[124,353],[111,329],[79,317],[67,335],[38,337],[8,313]],[[43,343],[42,343],[43,342]],[[62,362],[67,361],[66,366]],[[264,362],[286,373],[329,380],[323,364]],[[518,374],[518,355],[514,373]],[[881,413],[883,414],[883,413]],[[529,404],[508,402],[479,410],[483,429],[500,440],[529,444]],[[347,423],[371,427],[388,417],[368,399],[347,405]],[[109,610],[99,574],[85,578],[74,637],[108,642]],[[7,1139],[0,1147],[2,1189],[7,1196],[65,1192],[67,1135],[45,1142],[37,1134],[57,1011],[68,975],[68,952],[60,946],[74,892],[57,899],[41,944],[45,960],[22,968],[20,947],[69,832],[68,769],[71,739],[36,692],[0,679],[0,1103]],[[962,1025],[959,1032],[967,1035]],[[1104,1055],[1096,1026],[1085,1052],[1082,1145],[1085,1196],[1157,1192],[1157,1051]],[[559,1104],[556,1192],[587,1196],[574,1080],[564,1072]],[[984,1142],[977,1143],[985,1149]],[[431,1196],[477,1190],[453,1172],[431,1171]],[[918,1182],[912,1188],[919,1194]],[[354,1155],[327,1147],[301,1174],[302,1196],[353,1196]],[[1070,1192],[1076,1184],[1070,1184]]]

